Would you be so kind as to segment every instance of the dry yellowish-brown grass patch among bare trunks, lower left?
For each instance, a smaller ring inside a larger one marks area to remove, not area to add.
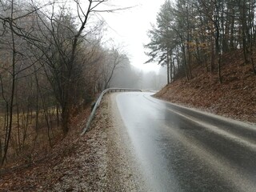
[[[54,115],[54,111],[51,111]],[[28,115],[28,121],[26,118]],[[4,115],[0,117],[4,119]],[[22,164],[31,164],[40,158],[44,158],[50,148],[56,142],[63,138],[61,127],[57,125],[57,118],[53,116],[50,122],[50,129],[47,127],[45,117],[42,113],[38,116],[38,130],[35,129],[35,112],[31,114],[20,114],[13,116],[13,126],[10,138],[10,145],[6,158],[5,168],[19,166]],[[0,139],[2,146],[5,140],[6,130],[4,121],[0,122]]]

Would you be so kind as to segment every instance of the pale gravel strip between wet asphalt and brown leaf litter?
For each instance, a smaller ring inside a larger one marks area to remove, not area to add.
[[[114,102],[107,94],[90,130],[78,141],[75,155],[54,170],[65,169],[51,191],[148,191],[138,172],[134,151]]]

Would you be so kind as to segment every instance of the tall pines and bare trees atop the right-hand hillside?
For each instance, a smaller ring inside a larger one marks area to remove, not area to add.
[[[168,83],[182,76],[190,81],[198,65],[222,83],[223,55],[242,50],[256,74],[255,24],[254,0],[166,0],[148,31],[147,62],[166,66]]]

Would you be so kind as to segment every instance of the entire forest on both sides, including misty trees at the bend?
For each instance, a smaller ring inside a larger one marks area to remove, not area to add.
[[[130,65],[106,41],[102,12],[127,8],[107,0],[0,0],[0,164],[32,162],[69,133],[70,119],[108,87],[159,90],[202,66],[222,84],[224,56],[241,50],[256,74],[254,0],[166,0],[148,31],[147,62],[159,74]],[[166,82],[162,72],[166,70]]]

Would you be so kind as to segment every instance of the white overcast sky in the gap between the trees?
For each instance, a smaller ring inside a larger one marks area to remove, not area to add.
[[[142,70],[157,70],[156,64],[143,64],[147,58],[144,54],[143,44],[150,40],[147,30],[150,23],[155,23],[160,6],[165,0],[112,0],[116,7],[130,7],[129,10],[121,10],[116,13],[104,13],[102,17],[109,26],[107,36],[113,38],[117,44],[122,44],[133,66]]]

